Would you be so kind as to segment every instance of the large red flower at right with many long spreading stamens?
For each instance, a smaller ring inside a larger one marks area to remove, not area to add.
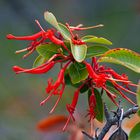
[[[136,95],[133,91],[127,89],[127,87],[123,87],[123,85],[131,85],[131,86],[136,86],[135,84],[131,83],[128,80],[128,77],[125,74],[119,75],[116,73],[114,70],[111,68],[105,68],[103,66],[99,66],[96,61],[94,61],[94,67],[92,67],[89,63],[84,62],[86,65],[87,71],[89,73],[89,77],[92,79],[91,85],[95,86],[95,88],[102,88],[103,90],[106,91],[107,95],[109,98],[113,101],[113,103],[116,103],[115,98],[116,95],[111,93],[107,89],[106,82],[109,81],[112,83],[114,88],[120,93],[120,95],[131,102],[132,104],[135,104],[130,98],[128,98],[121,90],[125,92],[129,92],[131,94]],[[123,85],[119,85],[117,82],[122,83]]]

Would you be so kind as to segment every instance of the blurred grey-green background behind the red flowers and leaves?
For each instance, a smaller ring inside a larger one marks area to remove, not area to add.
[[[39,106],[40,101],[46,97],[47,78],[56,77],[57,71],[53,70],[41,76],[15,75],[12,66],[29,68],[36,54],[23,60],[23,54],[15,55],[14,52],[25,48],[28,42],[11,41],[5,38],[9,33],[30,35],[38,32],[39,28],[34,22],[35,19],[47,28],[48,25],[43,17],[46,10],[52,12],[58,21],[68,22],[71,25],[104,24],[103,28],[89,30],[82,34],[102,36],[113,42],[112,48],[125,47],[140,53],[140,0],[0,0],[1,140],[67,139],[66,134],[44,134],[36,129],[37,122],[48,116],[53,104],[53,99],[51,99],[45,106]],[[126,72],[130,75],[130,79],[137,83],[138,74],[116,65],[112,66],[115,66],[118,72]],[[68,93],[73,90],[71,87],[66,89],[63,101],[55,111],[56,114],[66,114],[65,104],[70,102],[68,99],[71,96]],[[80,97],[79,108],[82,108],[84,96]],[[130,105],[126,101],[124,104]]]

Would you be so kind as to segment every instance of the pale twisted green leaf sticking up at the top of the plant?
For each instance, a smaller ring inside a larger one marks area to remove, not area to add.
[[[70,40],[71,35],[67,27],[62,23],[58,23],[56,17],[51,12],[45,12],[44,18],[49,24],[55,27],[66,40]]]

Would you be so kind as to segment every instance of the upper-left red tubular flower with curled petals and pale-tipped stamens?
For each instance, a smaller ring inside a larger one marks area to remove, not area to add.
[[[14,39],[14,40],[27,40],[27,41],[32,41],[27,48],[25,49],[22,49],[22,50],[19,50],[19,51],[16,51],[16,53],[21,53],[21,52],[24,52],[24,51],[29,51],[27,54],[25,54],[23,56],[23,58],[27,57],[28,55],[30,55],[35,49],[37,46],[39,46],[40,44],[42,43],[46,43],[45,41],[47,39],[49,39],[52,43],[56,44],[56,45],[62,45],[67,51],[69,51],[67,49],[67,47],[65,46],[64,42],[60,39],[58,39],[56,36],[55,36],[55,30],[54,29],[49,29],[47,31],[45,31],[40,23],[38,22],[38,20],[35,20],[37,25],[40,27],[41,31],[34,34],[34,35],[31,35],[31,36],[14,36],[12,34],[8,34],[7,35],[7,39]]]

